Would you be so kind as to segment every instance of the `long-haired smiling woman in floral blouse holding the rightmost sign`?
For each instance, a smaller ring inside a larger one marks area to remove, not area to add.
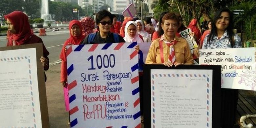
[[[217,11],[212,21],[211,32],[206,35],[202,49],[241,48],[241,39],[232,30],[232,12],[226,8]],[[232,128],[236,117],[238,90],[222,89],[221,94],[222,128]]]

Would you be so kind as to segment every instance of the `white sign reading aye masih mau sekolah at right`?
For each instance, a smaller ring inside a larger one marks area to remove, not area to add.
[[[256,90],[255,48],[200,50],[201,65],[222,66],[222,88]]]

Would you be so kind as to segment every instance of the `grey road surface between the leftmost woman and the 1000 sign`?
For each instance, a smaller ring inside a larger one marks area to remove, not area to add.
[[[50,31],[50,30],[48,30]],[[39,33],[35,33],[38,35]],[[46,71],[46,95],[48,114],[51,128],[70,128],[68,124],[69,115],[65,111],[65,102],[63,96],[63,87],[60,80],[60,60],[59,53],[63,47],[64,41],[69,37],[68,29],[57,32],[47,32],[46,36],[39,36],[47,50],[50,52],[50,68]],[[5,47],[7,43],[6,36],[0,36],[0,47]]]

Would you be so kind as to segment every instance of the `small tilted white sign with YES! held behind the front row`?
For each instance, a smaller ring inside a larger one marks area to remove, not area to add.
[[[198,47],[198,45],[197,45],[195,38],[190,36],[190,34],[189,34],[190,32],[192,32],[192,31],[190,28],[188,28],[188,29],[180,32],[179,34],[181,35],[182,38],[187,40],[189,48],[190,48],[190,52],[193,54],[193,50],[196,47]]]

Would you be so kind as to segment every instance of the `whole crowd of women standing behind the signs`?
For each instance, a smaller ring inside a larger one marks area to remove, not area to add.
[[[13,11],[5,15],[8,29],[13,35],[8,39],[7,46],[23,45],[43,42],[34,35],[29,26],[28,16],[21,11]],[[125,17],[121,23],[109,11],[99,11],[94,21],[90,17],[84,17],[80,21],[72,20],[69,24],[70,37],[65,41],[60,53],[61,85],[67,88],[67,58],[66,46],[78,44],[116,43],[116,42],[149,42],[146,64],[163,64],[168,67],[178,65],[192,65],[194,59],[199,57],[198,49],[224,49],[241,48],[240,37],[233,33],[233,16],[228,9],[217,11],[212,20],[208,21],[209,30],[201,36],[196,27],[197,20],[192,19],[187,28],[197,41],[199,48],[190,52],[185,39],[180,37],[179,32],[187,29],[182,24],[182,18],[174,12],[162,12],[160,19],[147,18],[143,22],[139,18]],[[94,32],[94,24],[97,28]],[[135,47],[139,51],[139,46]],[[49,69],[49,52],[43,45],[43,56],[40,58],[44,70]],[[194,56],[193,56],[194,55]],[[255,53],[256,58],[256,53]],[[45,77],[46,81],[46,77]],[[66,95],[67,96],[67,95]],[[68,99],[68,98],[67,98]],[[222,89],[222,128],[233,127],[235,111],[238,99],[238,90]],[[68,104],[68,101],[66,101]],[[67,109],[68,110],[68,109]]]

